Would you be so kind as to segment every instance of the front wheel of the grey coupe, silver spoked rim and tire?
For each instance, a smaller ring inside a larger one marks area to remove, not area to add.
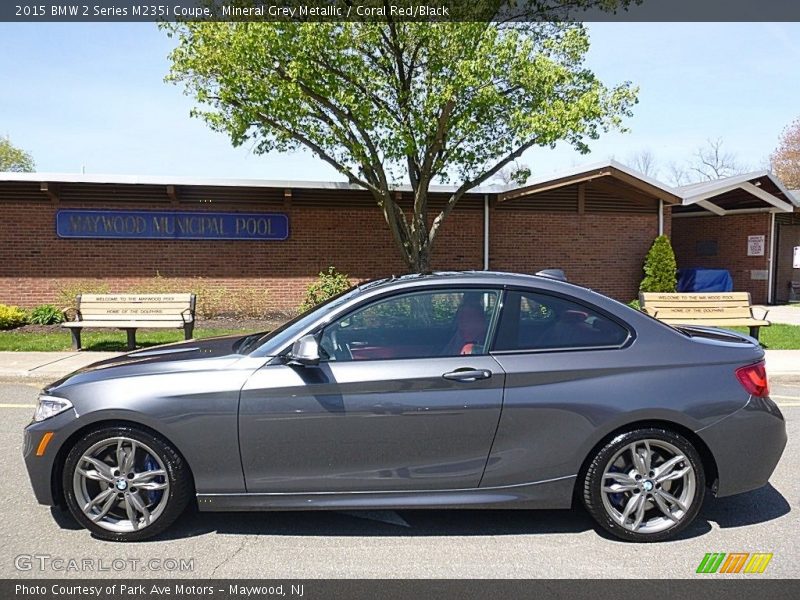
[[[166,529],[191,497],[181,456],[162,439],[129,426],[89,433],[64,464],[64,496],[77,521],[96,536],[143,540]]]

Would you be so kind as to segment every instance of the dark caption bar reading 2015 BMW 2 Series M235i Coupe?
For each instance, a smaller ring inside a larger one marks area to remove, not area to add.
[[[608,10],[609,4],[616,9]],[[605,8],[605,10],[603,9]],[[798,0],[4,0],[5,22],[800,21]]]

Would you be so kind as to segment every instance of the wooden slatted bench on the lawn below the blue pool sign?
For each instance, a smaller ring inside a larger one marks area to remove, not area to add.
[[[84,294],[77,297],[77,309],[64,311],[74,320],[62,323],[72,333],[72,347],[81,349],[81,331],[85,327],[124,329],[128,350],[136,349],[136,330],[183,329],[184,338],[194,333],[194,294]]]

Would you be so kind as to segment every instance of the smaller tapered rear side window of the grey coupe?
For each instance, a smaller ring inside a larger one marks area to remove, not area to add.
[[[557,296],[506,294],[495,350],[619,346],[628,330],[602,314]]]

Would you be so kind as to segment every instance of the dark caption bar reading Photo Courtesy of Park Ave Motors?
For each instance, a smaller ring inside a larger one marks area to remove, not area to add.
[[[700,597],[703,600],[789,600],[800,597],[798,580],[764,579],[758,575],[679,580],[3,580],[4,600],[244,600],[290,598],[318,600],[507,600],[555,598],[618,600],[619,598]]]

